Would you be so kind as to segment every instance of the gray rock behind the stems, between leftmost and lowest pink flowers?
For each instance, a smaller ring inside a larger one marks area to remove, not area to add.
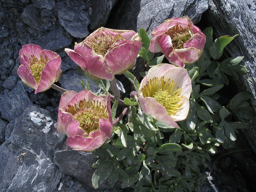
[[[86,76],[81,75],[77,72],[76,69],[70,69],[62,73],[59,79],[61,87],[67,90],[74,90],[80,92],[84,90],[84,87],[81,85],[80,80],[86,84]],[[98,92],[100,88],[89,78],[90,90],[94,93]]]

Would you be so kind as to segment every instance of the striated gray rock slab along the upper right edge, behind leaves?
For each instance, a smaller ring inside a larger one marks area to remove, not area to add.
[[[215,36],[229,35],[236,37],[227,47],[231,56],[244,56],[242,64],[247,68],[248,74],[240,78],[238,91],[247,91],[252,94],[252,106],[256,110],[256,3],[249,0],[211,0],[209,10],[206,12],[208,24],[213,27]],[[256,118],[250,122],[250,129],[243,130],[247,140],[256,152]]]

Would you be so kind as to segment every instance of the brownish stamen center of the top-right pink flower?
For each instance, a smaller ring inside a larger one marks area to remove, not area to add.
[[[179,27],[179,25],[175,25],[170,28],[165,34],[169,35],[172,39],[172,47],[173,49],[183,49],[184,44],[188,42],[191,38],[191,34],[189,33],[190,24],[188,27]]]

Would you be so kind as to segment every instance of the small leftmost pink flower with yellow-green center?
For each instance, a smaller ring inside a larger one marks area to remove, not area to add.
[[[20,50],[20,66],[17,74],[22,82],[35,89],[45,91],[60,78],[60,56],[50,50],[42,50],[35,44],[26,44]]]

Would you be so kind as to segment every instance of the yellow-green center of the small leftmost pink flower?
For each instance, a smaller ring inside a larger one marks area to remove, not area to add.
[[[29,68],[31,69],[31,73],[36,81],[36,83],[39,83],[39,80],[41,79],[41,75],[43,72],[43,69],[47,63],[47,59],[44,59],[42,55],[40,55],[40,58],[36,58],[34,55],[31,55],[33,60],[29,59],[30,61],[30,66]]]

